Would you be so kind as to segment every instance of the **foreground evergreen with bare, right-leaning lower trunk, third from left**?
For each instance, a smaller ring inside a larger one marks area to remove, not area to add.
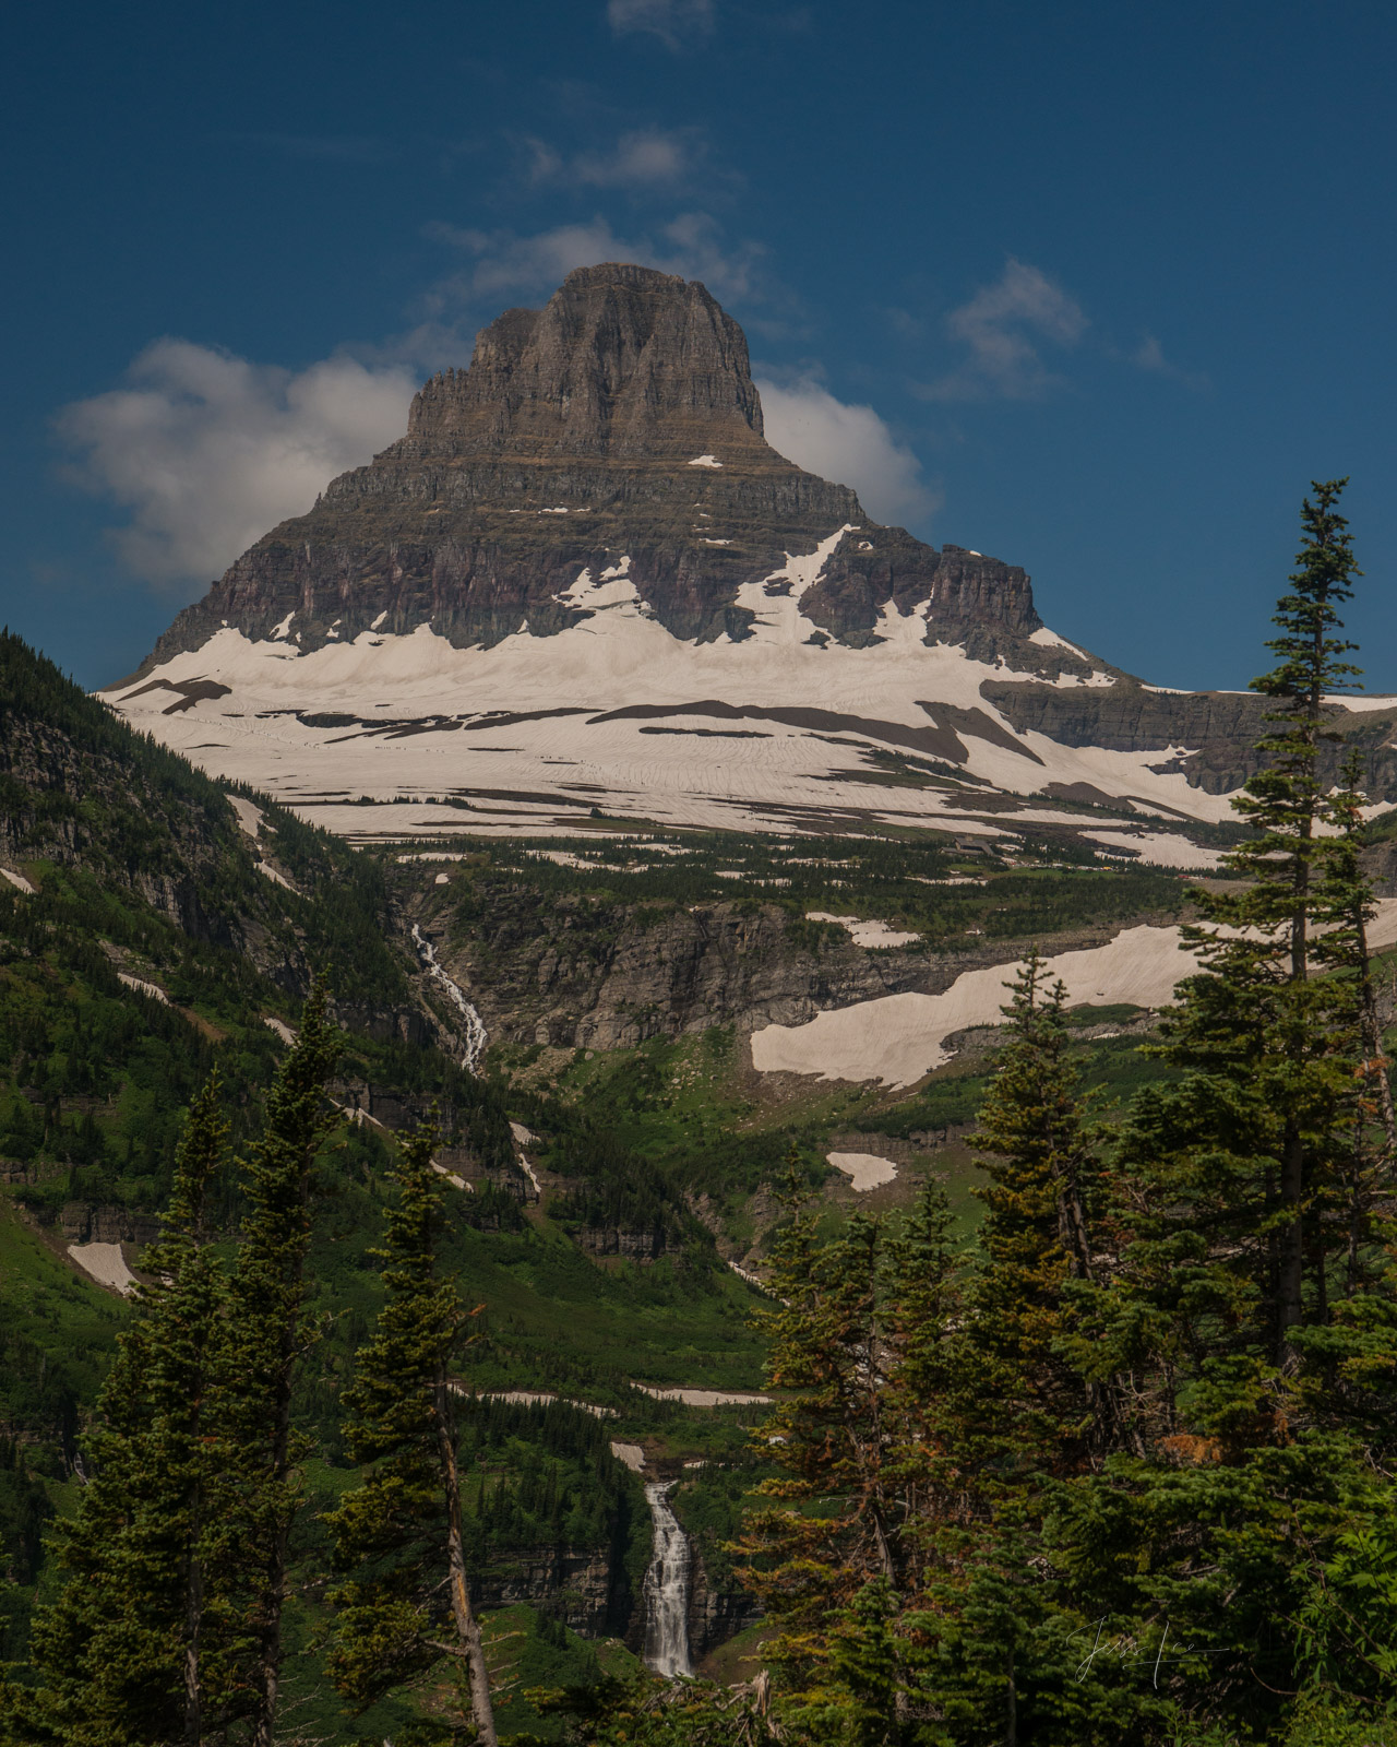
[[[494,1747],[485,1653],[471,1611],[461,1530],[461,1478],[452,1415],[452,1361],[470,1315],[442,1277],[442,1177],[435,1132],[402,1141],[396,1202],[386,1212],[382,1281],[388,1300],[361,1347],[344,1401],[360,1485],[327,1522],[349,1576],[337,1607],[330,1672],[358,1707],[424,1675],[444,1656],[463,1667],[465,1709]],[[473,1312],[471,1312],[473,1314]],[[554,1469],[555,1483],[555,1469]],[[547,1509],[547,1499],[545,1499]]]

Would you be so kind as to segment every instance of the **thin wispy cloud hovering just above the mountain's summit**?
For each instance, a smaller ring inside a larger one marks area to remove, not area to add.
[[[622,238],[606,218],[564,224],[534,236],[513,231],[463,231],[433,225],[431,236],[473,257],[465,273],[438,281],[428,307],[440,316],[461,304],[484,302],[517,292],[554,292],[573,267],[602,260],[630,260],[686,280],[702,280],[719,299],[751,297],[763,276],[765,248],[760,243],[723,241],[709,213],[679,213],[653,236]]]

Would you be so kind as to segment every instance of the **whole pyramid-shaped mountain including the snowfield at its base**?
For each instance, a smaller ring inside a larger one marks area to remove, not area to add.
[[[1105,847],[1179,867],[1208,856],[1160,821],[1229,818],[1264,711],[1146,685],[1022,568],[871,522],[767,442],[709,292],[625,264],[484,328],[107,697],[353,837],[1116,814]],[[1334,708],[1397,798],[1394,701]]]

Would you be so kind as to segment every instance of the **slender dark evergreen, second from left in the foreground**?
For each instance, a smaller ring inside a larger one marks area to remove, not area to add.
[[[241,1623],[234,1649],[251,1747],[272,1747],[274,1738],[290,1536],[300,1509],[300,1464],[311,1448],[292,1424],[292,1398],[314,1343],[302,1317],[306,1256],[316,1155],[339,1122],[325,1099],[339,1043],[318,980],[267,1094],[262,1139],[246,1162],[248,1216],[220,1354],[220,1541],[213,1562]]]

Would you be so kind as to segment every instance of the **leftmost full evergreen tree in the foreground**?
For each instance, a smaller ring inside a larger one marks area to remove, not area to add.
[[[213,1076],[190,1108],[161,1237],[143,1258],[87,1438],[91,1478],[58,1530],[68,1581],[33,1628],[38,1689],[21,1738],[65,1747],[199,1742],[227,1670],[208,1644],[208,1426],[227,1286],[206,1198],[227,1125]]]

